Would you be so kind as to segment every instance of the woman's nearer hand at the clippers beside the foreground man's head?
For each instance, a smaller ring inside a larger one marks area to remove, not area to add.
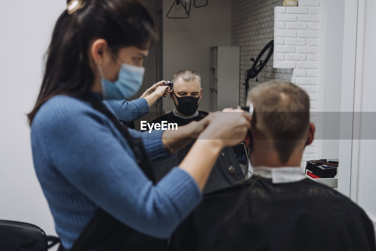
[[[252,116],[240,109],[223,109],[214,113],[209,125],[197,139],[209,139],[221,148],[237,145],[251,129]]]

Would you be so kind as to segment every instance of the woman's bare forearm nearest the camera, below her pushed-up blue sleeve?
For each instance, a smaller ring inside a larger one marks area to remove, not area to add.
[[[223,145],[218,139],[197,139],[179,165],[192,176],[201,191],[222,148]]]

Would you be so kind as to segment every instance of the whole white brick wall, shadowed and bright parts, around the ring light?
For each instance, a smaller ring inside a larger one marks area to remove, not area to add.
[[[317,107],[319,0],[299,0],[297,7],[282,6],[283,0],[232,0],[231,44],[240,46],[240,93],[243,104],[244,71],[261,49],[274,39],[274,55],[258,75],[258,83],[270,79],[289,80],[305,90],[311,111]],[[291,69],[293,68],[293,69]],[[250,88],[258,84],[250,80]],[[311,122],[316,122],[315,113]],[[305,161],[315,158],[315,141],[306,147]]]

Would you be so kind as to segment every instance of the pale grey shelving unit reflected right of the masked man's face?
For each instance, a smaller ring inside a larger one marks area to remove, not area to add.
[[[239,104],[240,47],[210,48],[209,109],[222,110]]]

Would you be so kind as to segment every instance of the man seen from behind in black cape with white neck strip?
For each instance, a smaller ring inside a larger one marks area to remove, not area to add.
[[[299,167],[315,131],[308,95],[269,81],[252,89],[250,101],[253,175],[204,196],[173,234],[171,250],[375,251],[365,212]]]

